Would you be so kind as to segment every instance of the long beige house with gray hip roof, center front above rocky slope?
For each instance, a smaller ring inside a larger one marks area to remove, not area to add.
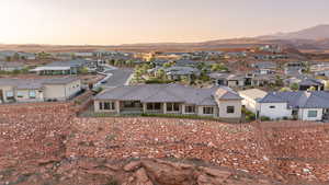
[[[240,120],[241,97],[226,86],[196,89],[180,84],[118,86],[94,97],[94,112],[180,114]]]

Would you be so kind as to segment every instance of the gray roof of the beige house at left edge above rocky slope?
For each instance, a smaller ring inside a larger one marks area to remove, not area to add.
[[[0,79],[0,85],[15,86],[16,89],[41,89],[45,84],[67,84],[79,80],[78,78],[56,79]]]

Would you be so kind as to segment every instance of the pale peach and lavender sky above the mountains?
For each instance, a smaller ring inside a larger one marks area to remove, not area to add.
[[[328,0],[1,0],[0,43],[184,43],[329,24]]]

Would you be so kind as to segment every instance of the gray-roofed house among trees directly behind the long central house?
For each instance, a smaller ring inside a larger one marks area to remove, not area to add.
[[[166,72],[166,76],[170,80],[180,80],[183,78],[192,79],[193,76],[198,77],[201,73],[198,69],[192,68],[192,67],[174,66],[174,67],[170,67],[170,68],[164,68],[163,70]]]

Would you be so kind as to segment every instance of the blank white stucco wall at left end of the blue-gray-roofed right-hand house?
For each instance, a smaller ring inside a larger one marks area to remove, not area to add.
[[[275,106],[275,108],[270,108]],[[260,116],[266,116],[271,119],[292,117],[292,111],[287,108],[287,103],[260,103]]]

